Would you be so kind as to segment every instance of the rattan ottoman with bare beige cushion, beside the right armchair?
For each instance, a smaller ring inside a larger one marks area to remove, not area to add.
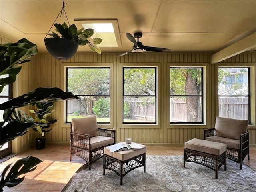
[[[204,165],[215,171],[215,178],[218,178],[218,170],[224,165],[227,170],[226,161],[227,145],[224,143],[192,139],[185,142],[183,166],[185,162],[194,162]]]

